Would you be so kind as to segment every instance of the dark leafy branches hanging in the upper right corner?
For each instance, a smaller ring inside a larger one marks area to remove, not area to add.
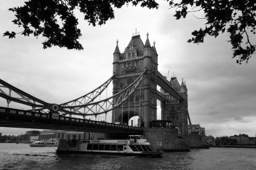
[[[169,3],[177,8],[174,15],[176,19],[185,18],[188,12],[204,12],[203,18],[207,20],[205,28],[192,32],[193,38],[188,42],[198,44],[203,42],[203,38],[207,35],[216,38],[220,33],[228,32],[229,42],[234,49],[233,58],[238,56],[237,63],[248,62],[255,53],[256,45],[251,40],[255,38],[256,31],[256,1],[182,0],[180,3],[174,3],[174,1],[169,1]],[[193,11],[189,11],[189,7]],[[251,32],[251,39],[249,32]]]

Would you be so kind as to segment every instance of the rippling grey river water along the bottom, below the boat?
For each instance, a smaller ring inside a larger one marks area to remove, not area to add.
[[[59,156],[56,149],[0,143],[0,169],[256,169],[256,148],[191,149],[160,158]]]

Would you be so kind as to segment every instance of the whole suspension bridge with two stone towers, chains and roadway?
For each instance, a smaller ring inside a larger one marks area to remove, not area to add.
[[[124,52],[120,52],[117,41],[113,53],[113,75],[90,93],[65,103],[42,101],[0,79],[0,97],[7,101],[7,105],[0,105],[0,126],[141,134],[150,128],[150,122],[157,120],[158,99],[161,120],[171,122],[181,136],[186,136],[189,117],[187,86],[183,80],[180,85],[176,77],[168,81],[158,71],[156,44],[154,42],[151,46],[148,36],[144,44],[139,34],[133,34]],[[106,96],[111,82],[113,95]],[[9,108],[11,102],[31,109]],[[112,116],[112,122],[106,122],[108,114]],[[99,115],[105,116],[103,122],[96,121]],[[95,120],[90,120],[90,116],[95,116]],[[138,124],[129,126],[133,116],[139,117]]]

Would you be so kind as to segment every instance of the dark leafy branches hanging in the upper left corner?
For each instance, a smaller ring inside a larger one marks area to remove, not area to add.
[[[131,2],[141,7],[154,8],[157,3],[153,0],[125,0],[125,1],[102,1],[102,0],[29,0],[23,7],[13,7],[9,11],[15,13],[13,24],[23,27],[20,34],[24,36],[34,35],[36,38],[42,35],[46,40],[42,43],[43,48],[51,46],[66,47],[67,49],[82,50],[78,42],[81,31],[77,28],[77,18],[74,11],[79,9],[84,13],[84,19],[93,26],[105,24],[108,19],[114,18],[113,7],[120,8],[125,3]],[[3,36],[15,38],[15,32],[5,32]]]

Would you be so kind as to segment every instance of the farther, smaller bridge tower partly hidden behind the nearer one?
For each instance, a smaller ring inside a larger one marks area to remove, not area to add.
[[[177,100],[169,93],[166,93],[164,89],[161,92],[166,95],[168,101],[161,101],[161,120],[170,120],[174,126],[179,128],[179,134],[186,136],[188,134],[188,101],[187,101],[187,85],[183,79],[181,85],[177,81],[177,77],[172,75],[170,79],[170,85],[174,87],[181,95],[183,100]]]

